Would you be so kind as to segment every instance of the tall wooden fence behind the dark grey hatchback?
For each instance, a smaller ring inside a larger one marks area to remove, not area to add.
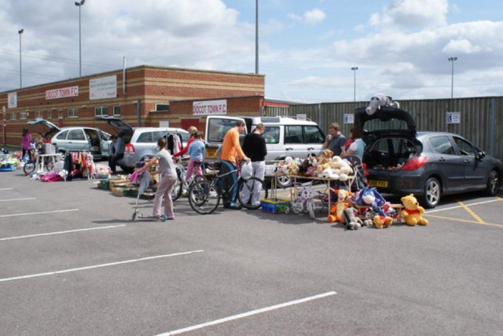
[[[400,108],[415,120],[417,131],[452,132],[459,134],[489,155],[503,161],[503,97],[425,99],[398,101]],[[344,115],[368,102],[320,103],[290,105],[288,109],[265,110],[267,116],[305,114],[327,132],[328,125],[338,122],[343,134],[349,134],[353,124],[344,123]],[[447,112],[460,112],[459,124],[447,123]]]

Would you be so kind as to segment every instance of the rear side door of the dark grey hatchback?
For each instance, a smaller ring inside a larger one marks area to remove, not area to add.
[[[456,152],[448,135],[432,136],[428,139],[437,160],[438,169],[444,180],[445,190],[464,188],[465,167],[461,156]]]

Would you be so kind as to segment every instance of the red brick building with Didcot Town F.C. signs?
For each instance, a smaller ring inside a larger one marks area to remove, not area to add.
[[[0,108],[5,107],[0,142],[18,145],[22,128],[35,118],[105,131],[111,129],[95,117],[186,128],[204,123],[204,113],[193,113],[197,101],[225,101],[231,115],[259,115],[264,106],[264,75],[141,65],[127,68],[125,78],[124,87],[123,70],[116,70],[0,93]]]

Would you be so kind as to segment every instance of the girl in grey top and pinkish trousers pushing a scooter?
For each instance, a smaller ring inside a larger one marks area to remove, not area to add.
[[[147,168],[153,164],[160,165],[161,181],[157,187],[157,192],[154,197],[154,208],[152,217],[160,217],[160,208],[162,196],[164,196],[164,215],[167,219],[175,219],[173,213],[173,200],[171,199],[171,192],[177,182],[177,171],[173,164],[173,159],[169,151],[166,150],[166,139],[159,138],[157,140],[159,151],[152,157],[138,172],[143,173]],[[159,171],[156,172],[157,174]]]

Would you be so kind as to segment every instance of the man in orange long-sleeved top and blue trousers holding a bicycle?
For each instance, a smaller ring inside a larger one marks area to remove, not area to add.
[[[239,158],[249,161],[249,158],[243,153],[239,144],[239,133],[244,130],[245,124],[242,120],[238,120],[236,125],[229,129],[223,138],[222,150],[220,153],[220,175],[236,170],[236,162]],[[237,194],[236,172],[222,177],[222,200],[223,207],[230,209],[241,209],[236,204]],[[234,188],[227,193],[228,188],[234,184]]]

